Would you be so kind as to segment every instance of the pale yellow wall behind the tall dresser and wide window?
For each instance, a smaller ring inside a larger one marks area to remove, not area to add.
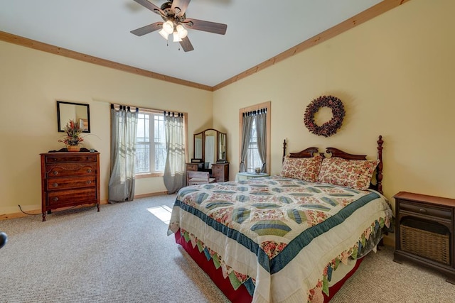
[[[90,104],[85,147],[101,153],[101,199],[109,179],[109,104],[188,113],[193,133],[212,125],[212,93],[0,42],[0,215],[41,209],[40,153],[63,148],[56,100]],[[136,194],[165,192],[162,177],[137,179]]]

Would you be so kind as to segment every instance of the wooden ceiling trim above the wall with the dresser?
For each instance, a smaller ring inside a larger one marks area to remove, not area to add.
[[[14,44],[17,44],[17,45],[26,46],[27,48],[33,48],[35,50],[42,50],[43,52],[51,53],[51,54],[54,54],[54,55],[60,55],[60,56],[63,56],[63,57],[69,57],[71,59],[80,60],[80,61],[84,61],[84,62],[89,62],[89,63],[93,63],[93,64],[96,64],[96,65],[101,65],[101,66],[104,66],[104,67],[110,67],[110,68],[113,68],[115,70],[121,70],[123,72],[131,72],[132,74],[136,74],[136,75],[140,75],[140,76],[144,76],[144,77],[150,77],[150,78],[153,78],[153,79],[158,79],[158,80],[162,80],[162,81],[166,81],[166,82],[171,82],[171,83],[174,83],[174,84],[186,85],[187,87],[194,87],[196,89],[204,89],[204,90],[208,90],[210,92],[213,91],[213,88],[208,86],[208,85],[199,84],[199,83],[196,83],[196,82],[186,81],[186,80],[183,80],[183,79],[178,79],[178,78],[162,75],[162,74],[159,74],[157,72],[149,72],[148,70],[142,70],[142,69],[137,68],[137,67],[124,65],[122,63],[117,63],[117,62],[114,62],[114,61],[101,59],[99,57],[93,57],[93,56],[90,56],[90,55],[77,53],[77,52],[75,52],[73,50],[68,50],[66,48],[59,48],[58,46],[55,46],[55,45],[50,45],[50,44],[42,43],[42,42],[39,42],[39,41],[36,41],[36,40],[23,38],[23,37],[18,36],[18,35],[13,35],[11,33],[6,33],[4,31],[0,31],[0,40],[3,40],[5,42],[9,42],[9,43],[14,43]]]

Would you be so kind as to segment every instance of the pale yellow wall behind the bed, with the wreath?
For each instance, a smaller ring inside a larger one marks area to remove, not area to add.
[[[239,165],[238,110],[272,101],[272,174],[281,170],[284,138],[291,152],[331,146],[375,158],[382,135],[388,198],[400,191],[455,198],[454,11],[452,0],[412,0],[214,92],[230,178]],[[309,133],[303,116],[311,100],[329,94],[343,101],[346,118],[324,138]]]

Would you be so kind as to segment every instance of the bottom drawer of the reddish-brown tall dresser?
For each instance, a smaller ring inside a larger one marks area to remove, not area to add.
[[[85,204],[85,203],[97,203],[97,190],[93,188],[85,189],[74,189],[64,191],[52,191],[48,192],[46,205],[47,206],[66,206],[67,204]]]

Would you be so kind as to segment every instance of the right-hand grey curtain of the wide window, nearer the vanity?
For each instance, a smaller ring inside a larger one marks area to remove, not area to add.
[[[166,165],[164,166],[164,186],[168,194],[173,194],[185,186],[185,136],[183,114],[164,112],[166,133]]]

